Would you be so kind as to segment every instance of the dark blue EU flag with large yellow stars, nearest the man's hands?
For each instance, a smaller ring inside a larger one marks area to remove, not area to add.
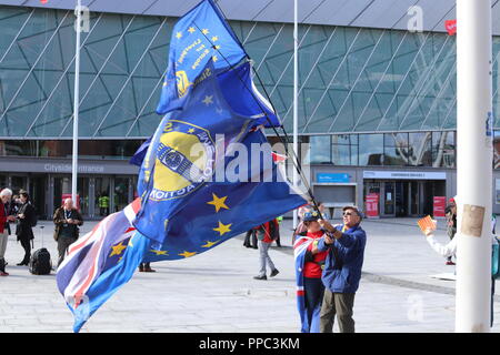
[[[260,130],[250,132],[240,152],[264,146],[243,162],[241,155],[226,156],[228,174],[223,182],[206,183],[171,220],[161,248],[150,247],[144,262],[190,257],[220,245],[229,239],[294,210],[307,201],[282,181],[271,148]],[[257,162],[257,163],[256,163]],[[238,181],[231,173],[236,172]],[[253,180],[253,182],[252,182]]]

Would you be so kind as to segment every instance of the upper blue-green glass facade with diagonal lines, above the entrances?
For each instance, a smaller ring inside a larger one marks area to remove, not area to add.
[[[72,11],[0,7],[0,138],[71,135],[73,18]],[[151,135],[176,20],[91,13],[81,47],[82,138]],[[230,23],[256,62],[258,87],[291,131],[293,27]],[[456,37],[316,24],[299,32],[300,133],[456,128]],[[494,38],[493,112],[499,54]]]

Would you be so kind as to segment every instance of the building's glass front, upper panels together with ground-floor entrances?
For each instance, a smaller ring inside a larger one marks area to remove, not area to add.
[[[90,13],[81,38],[79,155],[84,169],[78,181],[90,217],[117,211],[136,195],[137,172],[127,161],[160,122],[156,106],[176,21]],[[73,23],[71,10],[0,6],[0,186],[28,189],[49,217],[70,191]],[[254,61],[256,85],[269,95],[290,136],[293,26],[230,24]],[[301,143],[310,143],[301,153],[313,166],[314,194],[326,202],[362,203],[367,193],[379,193],[381,214],[388,216],[430,213],[432,196],[452,195],[456,37],[300,24],[299,38],[299,134]],[[493,37],[492,53],[499,130],[493,166],[500,169],[500,37]],[[268,133],[278,141],[273,131]],[[432,169],[447,178],[363,179],[364,171],[424,175]],[[321,185],[320,172],[348,174],[359,189]],[[110,211],[99,205],[101,195],[110,197]],[[497,204],[500,209],[500,200]]]

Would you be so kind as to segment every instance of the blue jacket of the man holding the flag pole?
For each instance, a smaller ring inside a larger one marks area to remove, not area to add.
[[[341,226],[336,229],[341,231]],[[321,276],[324,287],[334,293],[358,291],[366,244],[367,234],[359,225],[343,232],[332,245],[324,244],[324,237],[319,241],[318,250],[329,250]]]

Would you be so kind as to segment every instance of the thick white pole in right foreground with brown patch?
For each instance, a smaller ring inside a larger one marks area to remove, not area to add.
[[[456,332],[490,329],[491,2],[457,0]]]

